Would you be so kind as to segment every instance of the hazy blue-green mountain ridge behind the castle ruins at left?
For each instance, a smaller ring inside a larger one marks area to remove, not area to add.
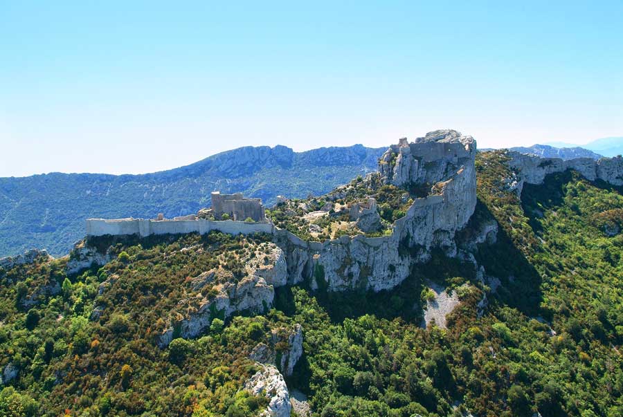
[[[192,214],[210,205],[215,190],[260,197],[267,205],[278,194],[324,194],[375,170],[384,149],[242,147],[153,174],[0,178],[0,256],[28,248],[64,254],[84,235],[87,218]]]

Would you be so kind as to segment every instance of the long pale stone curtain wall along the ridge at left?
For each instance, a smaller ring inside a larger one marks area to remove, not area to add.
[[[87,236],[138,234],[206,234],[213,230],[228,234],[272,233],[272,223],[246,223],[244,221],[150,220],[150,219],[87,219]]]

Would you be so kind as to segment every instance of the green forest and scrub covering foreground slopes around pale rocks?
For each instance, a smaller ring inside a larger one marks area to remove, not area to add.
[[[194,277],[242,281],[241,259],[269,237],[102,239],[114,259],[79,275],[68,258],[0,269],[0,416],[258,416],[249,356],[296,324],[303,355],[286,382],[313,416],[622,416],[622,191],[568,171],[518,196],[507,158],[476,156],[478,205],[460,232],[497,221],[474,251],[494,286],[433,252],[393,290],[282,286],[266,312],[161,349],[165,322],[217,293]],[[422,328],[430,282],[460,299],[447,328]]]

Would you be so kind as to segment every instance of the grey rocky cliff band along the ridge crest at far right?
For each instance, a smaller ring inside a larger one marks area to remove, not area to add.
[[[612,185],[623,185],[623,158],[576,158],[563,160],[560,158],[539,158],[530,154],[521,154],[509,151],[510,159],[507,164],[516,170],[518,181],[514,183],[514,189],[521,194],[523,183],[539,185],[548,174],[565,172],[567,169],[575,169],[584,178],[590,181],[604,180]]]

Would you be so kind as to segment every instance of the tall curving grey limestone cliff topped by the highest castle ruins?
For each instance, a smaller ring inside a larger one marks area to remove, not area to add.
[[[318,243],[278,230],[289,283],[310,279],[314,288],[386,290],[401,283],[413,263],[428,260],[431,248],[455,255],[455,232],[476,207],[475,157],[476,141],[456,131],[435,131],[413,143],[392,145],[381,157],[379,174],[370,175],[426,196],[415,198],[385,237],[343,236]]]

